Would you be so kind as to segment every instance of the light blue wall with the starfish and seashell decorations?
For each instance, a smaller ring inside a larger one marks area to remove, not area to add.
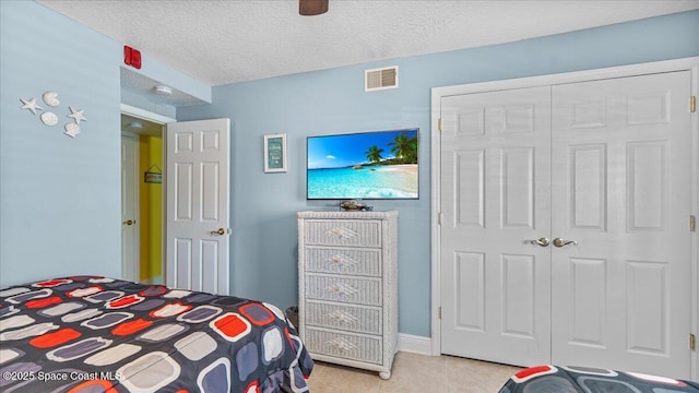
[[[43,5],[0,1],[0,287],[120,276],[121,47]],[[60,105],[43,103],[46,91]],[[36,98],[59,123],[21,109]],[[68,109],[87,121],[72,139]]]

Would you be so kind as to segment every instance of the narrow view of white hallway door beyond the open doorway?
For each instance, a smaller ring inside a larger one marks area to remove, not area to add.
[[[138,148],[138,135],[121,135],[121,277],[133,282],[140,279]]]

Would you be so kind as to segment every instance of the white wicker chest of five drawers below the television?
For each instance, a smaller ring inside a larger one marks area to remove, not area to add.
[[[316,360],[391,377],[398,212],[298,212],[299,333]]]

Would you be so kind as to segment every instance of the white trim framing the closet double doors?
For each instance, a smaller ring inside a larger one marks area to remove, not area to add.
[[[440,319],[439,307],[441,305],[441,283],[440,283],[440,227],[439,227],[439,214],[441,212],[440,200],[440,102],[442,97],[458,95],[458,94],[473,94],[491,92],[499,90],[512,90],[523,87],[534,87],[542,85],[555,85],[565,83],[576,83],[583,81],[594,81],[620,76],[641,75],[659,72],[672,72],[689,70],[691,72],[691,95],[699,95],[699,57],[656,61],[649,63],[639,63],[631,66],[621,66],[587,71],[567,72],[560,74],[550,74],[542,76],[521,78],[503,81],[482,82],[463,85],[434,87],[431,90],[431,310],[430,310],[430,327],[431,327],[431,352],[434,356],[441,354],[441,333],[440,333]],[[687,97],[689,103],[689,97]],[[689,107],[689,104],[687,104]],[[699,201],[698,192],[699,186],[699,159],[697,157],[699,153],[699,112],[695,112],[691,116],[691,133],[692,133],[692,147],[691,147],[691,171],[692,179],[697,179],[691,184],[691,214],[699,215]],[[689,218],[689,217],[688,217]],[[692,234],[691,248],[692,260],[691,275],[692,279],[692,299],[691,299],[691,331],[695,335],[699,335],[699,247],[697,246],[697,233]],[[689,338],[687,338],[689,340]],[[699,350],[695,350],[691,354],[691,378],[694,380],[699,379]]]

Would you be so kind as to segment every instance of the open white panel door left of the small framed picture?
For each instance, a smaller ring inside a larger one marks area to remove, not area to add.
[[[228,294],[229,119],[168,123],[166,284]]]

